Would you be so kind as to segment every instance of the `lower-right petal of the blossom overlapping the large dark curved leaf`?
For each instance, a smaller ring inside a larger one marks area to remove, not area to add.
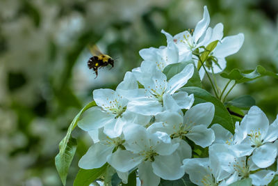
[[[206,128],[205,125],[194,126],[190,132],[186,134],[186,137],[196,145],[202,146],[202,148],[210,146],[215,139],[213,130]]]

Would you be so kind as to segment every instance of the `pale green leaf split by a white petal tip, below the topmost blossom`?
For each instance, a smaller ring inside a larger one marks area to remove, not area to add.
[[[174,75],[177,75],[183,68],[186,67],[186,65],[192,63],[194,65],[194,73],[193,76],[188,80],[186,86],[197,86],[202,87],[201,79],[199,77],[199,72],[197,68],[195,67],[194,61],[185,61],[181,63],[173,63],[170,65],[167,65],[163,73],[167,76],[167,80],[171,79]]]

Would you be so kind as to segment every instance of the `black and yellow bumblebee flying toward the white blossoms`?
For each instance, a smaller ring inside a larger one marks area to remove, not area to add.
[[[90,52],[92,54],[92,57],[87,62],[88,68],[95,71],[97,78],[97,70],[99,68],[105,67],[107,65],[111,65],[111,68],[114,67],[114,59],[111,58],[111,56],[108,56],[106,54],[102,54],[97,45],[89,45]]]

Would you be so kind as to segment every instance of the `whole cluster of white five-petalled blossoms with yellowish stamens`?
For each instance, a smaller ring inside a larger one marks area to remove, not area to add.
[[[222,123],[213,123],[213,103],[193,106],[194,95],[181,89],[195,70],[201,79],[204,72],[222,72],[225,57],[243,45],[242,33],[223,38],[223,25],[212,29],[209,22],[205,6],[193,32],[171,36],[162,31],[167,46],[140,50],[144,61],[126,72],[115,91],[93,91],[97,107],[78,123],[94,141],[79,161],[82,169],[107,162],[122,183],[136,171],[141,185],[185,173],[197,185],[229,185],[242,178],[252,178],[253,185],[270,183],[275,171],[267,168],[277,157],[278,119],[269,125],[263,111],[251,107],[231,134]],[[190,63],[172,77],[163,73],[167,65],[185,61]],[[208,148],[208,157],[192,158],[193,146]]]

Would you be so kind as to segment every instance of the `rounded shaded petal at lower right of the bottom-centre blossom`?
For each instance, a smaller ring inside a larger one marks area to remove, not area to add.
[[[184,175],[181,159],[177,153],[154,157],[152,168],[154,173],[165,180],[177,180]]]

